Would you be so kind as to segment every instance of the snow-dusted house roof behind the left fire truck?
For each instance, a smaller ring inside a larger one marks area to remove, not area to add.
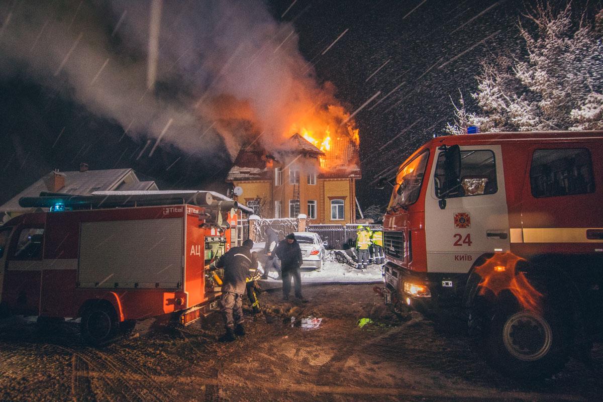
[[[120,181],[123,180],[123,178],[130,173],[134,173],[132,169],[106,169],[86,172],[60,172],[59,175],[65,177],[65,186],[61,189],[58,189],[58,191],[66,194],[88,195],[95,191],[113,190],[114,187],[118,186]],[[52,190],[49,189],[45,183],[45,181],[48,180],[48,177],[51,174],[53,174],[53,172],[50,172],[48,175],[45,175],[44,177],[40,178],[40,180],[36,181],[36,183],[27,187],[27,189],[23,190],[22,192],[18,193],[16,196],[8,200],[7,203],[0,206],[0,212],[29,210],[27,208],[19,206],[19,198],[38,196],[42,191]],[[152,182],[147,181],[142,183]]]

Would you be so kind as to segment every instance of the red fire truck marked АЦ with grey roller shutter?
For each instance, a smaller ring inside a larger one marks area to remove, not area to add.
[[[209,192],[42,193],[20,204],[50,211],[0,228],[5,310],[39,321],[81,317],[83,338],[103,345],[136,320],[172,314],[187,325],[217,309],[205,266],[230,248],[235,201]]]

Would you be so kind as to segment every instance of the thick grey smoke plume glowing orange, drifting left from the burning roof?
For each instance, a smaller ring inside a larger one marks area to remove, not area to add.
[[[260,1],[19,1],[0,7],[0,23],[0,74],[148,137],[147,152],[226,146],[233,157],[244,143],[275,146],[300,127],[354,134],[334,89],[308,69],[294,27]]]

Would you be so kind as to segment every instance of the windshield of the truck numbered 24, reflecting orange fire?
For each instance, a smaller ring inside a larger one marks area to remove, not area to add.
[[[410,162],[402,165],[396,175],[396,184],[391,193],[390,205],[388,208],[397,205],[407,206],[414,204],[417,201],[428,159],[429,151],[425,151],[422,154],[417,155]]]

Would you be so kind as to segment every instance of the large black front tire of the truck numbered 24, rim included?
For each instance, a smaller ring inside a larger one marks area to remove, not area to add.
[[[570,350],[569,323],[548,309],[498,307],[487,333],[488,360],[511,377],[545,378],[559,372]]]

